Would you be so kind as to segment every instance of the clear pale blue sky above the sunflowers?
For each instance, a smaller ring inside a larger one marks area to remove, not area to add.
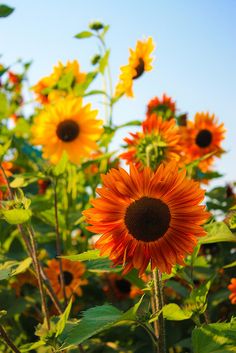
[[[73,36],[94,19],[111,25],[113,81],[137,39],[156,42],[155,68],[135,82],[135,98],[115,107],[115,123],[143,119],[147,102],[167,93],[190,118],[215,113],[227,128],[216,163],[225,180],[236,180],[236,1],[235,0],[6,0],[15,12],[0,21],[2,62],[33,59],[30,81],[49,74],[58,60],[78,59],[82,70],[96,52],[93,39]],[[97,101],[99,98],[97,99]],[[98,102],[98,105],[100,103]],[[101,105],[100,105],[101,107]],[[130,130],[130,129],[129,129]],[[126,131],[117,135],[122,143]]]

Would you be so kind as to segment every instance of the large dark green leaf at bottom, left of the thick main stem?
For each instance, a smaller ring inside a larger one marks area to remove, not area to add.
[[[67,348],[71,345],[77,345],[88,338],[108,329],[122,315],[122,311],[112,305],[102,305],[84,312],[82,320],[68,334],[65,340]]]

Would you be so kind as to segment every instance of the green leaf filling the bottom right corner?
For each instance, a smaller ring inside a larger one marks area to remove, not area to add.
[[[192,332],[194,353],[235,352],[236,320],[196,327]]]

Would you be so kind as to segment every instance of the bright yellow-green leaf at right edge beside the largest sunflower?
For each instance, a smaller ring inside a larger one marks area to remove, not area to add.
[[[211,244],[219,242],[236,242],[236,236],[230,231],[224,222],[214,222],[205,225],[207,235],[199,238],[199,244]]]

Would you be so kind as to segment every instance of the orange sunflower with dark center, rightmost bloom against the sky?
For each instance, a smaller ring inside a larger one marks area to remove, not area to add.
[[[224,124],[218,124],[214,114],[197,113],[194,122],[188,121],[186,127],[181,127],[181,131],[186,163],[211,154],[198,164],[202,172],[207,172],[214,162],[214,157],[220,157],[224,152],[221,148],[225,135]]]

